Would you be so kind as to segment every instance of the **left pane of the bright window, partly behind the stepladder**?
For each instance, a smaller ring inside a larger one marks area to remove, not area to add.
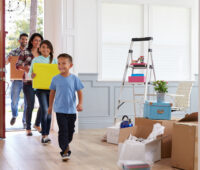
[[[143,6],[102,4],[102,79],[121,80],[130,41],[143,36]],[[135,54],[139,55],[137,46]]]

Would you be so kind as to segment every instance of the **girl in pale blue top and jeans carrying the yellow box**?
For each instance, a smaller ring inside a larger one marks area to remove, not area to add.
[[[50,41],[43,40],[39,48],[40,56],[34,58],[31,67],[29,70],[29,76],[32,79],[36,78],[34,72],[34,64],[36,63],[45,63],[45,64],[57,64],[57,60],[53,58],[53,46]],[[48,74],[48,70],[46,70]],[[43,74],[43,73],[41,73]],[[33,80],[34,81],[34,80]],[[51,115],[47,113],[49,106],[49,89],[36,89],[36,95],[39,100],[40,109],[41,109],[41,124],[42,124],[42,140],[43,144],[49,143],[51,140],[48,138],[50,126],[51,126]]]

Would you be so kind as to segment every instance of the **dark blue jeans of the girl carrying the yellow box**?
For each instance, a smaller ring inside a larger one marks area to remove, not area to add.
[[[49,135],[51,127],[51,114],[48,114],[49,90],[36,90],[41,109],[42,135]]]

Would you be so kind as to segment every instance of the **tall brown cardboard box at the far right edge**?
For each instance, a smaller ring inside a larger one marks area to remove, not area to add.
[[[174,124],[171,163],[176,168],[198,170],[198,122]]]

